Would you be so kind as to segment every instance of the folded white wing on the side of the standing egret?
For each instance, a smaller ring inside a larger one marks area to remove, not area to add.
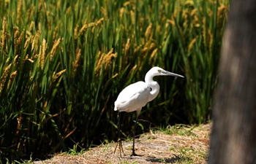
[[[115,110],[133,112],[140,109],[148,102],[151,89],[145,82],[136,82],[128,85],[121,91],[115,102]]]

